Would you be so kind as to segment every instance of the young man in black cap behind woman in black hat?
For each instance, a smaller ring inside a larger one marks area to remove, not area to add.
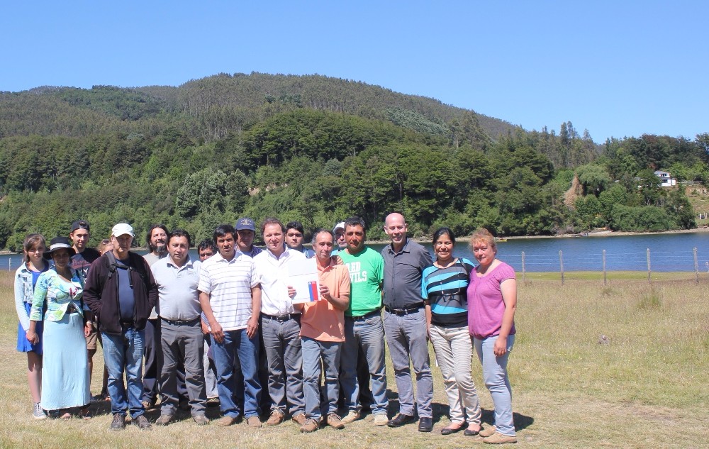
[[[88,248],[91,231],[89,222],[86,220],[77,220],[72,223],[72,229],[69,231],[69,238],[72,239],[72,248],[76,254],[72,255],[71,265],[74,270],[79,272],[79,275],[86,284],[86,275],[91,267],[91,262],[101,257],[98,251],[94,248]],[[91,382],[91,374],[94,372],[94,354],[96,354],[96,341],[99,339],[98,324],[94,319],[94,314],[89,308],[84,305],[84,317],[86,323],[91,327],[91,333],[86,337],[86,352],[89,354],[89,384]]]

